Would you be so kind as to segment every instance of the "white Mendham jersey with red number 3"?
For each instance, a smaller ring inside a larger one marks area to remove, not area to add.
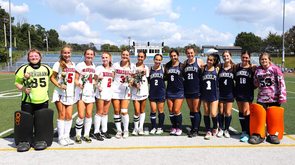
[[[112,71],[115,72],[114,74],[114,82],[112,91],[117,93],[125,93],[125,89],[127,87],[126,93],[130,93],[130,87],[127,86],[127,83],[125,83],[124,76],[127,75],[129,72],[132,72],[132,74],[135,73],[135,65],[130,64],[128,67],[121,67],[121,62],[114,63]]]

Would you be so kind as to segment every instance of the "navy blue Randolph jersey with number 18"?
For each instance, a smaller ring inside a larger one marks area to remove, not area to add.
[[[250,67],[250,65],[249,65]],[[235,97],[237,96],[254,96],[254,73],[249,74],[248,68],[242,68],[241,63],[237,68],[236,73],[236,85],[235,85]]]

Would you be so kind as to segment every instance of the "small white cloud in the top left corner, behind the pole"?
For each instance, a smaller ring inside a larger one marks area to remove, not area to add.
[[[7,13],[9,13],[9,1],[1,1],[1,8],[4,9]],[[10,3],[11,14],[27,14],[30,12],[29,6],[25,3],[22,5],[14,6],[13,3]]]

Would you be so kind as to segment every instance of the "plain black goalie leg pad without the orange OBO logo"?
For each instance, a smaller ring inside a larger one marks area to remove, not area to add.
[[[47,146],[51,146],[53,140],[53,112],[53,110],[47,108],[35,111],[34,144],[45,141]]]

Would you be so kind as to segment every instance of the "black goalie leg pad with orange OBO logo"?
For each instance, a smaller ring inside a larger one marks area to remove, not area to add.
[[[34,117],[24,111],[14,112],[14,142],[19,145],[19,142],[28,142],[33,144],[33,127]]]

